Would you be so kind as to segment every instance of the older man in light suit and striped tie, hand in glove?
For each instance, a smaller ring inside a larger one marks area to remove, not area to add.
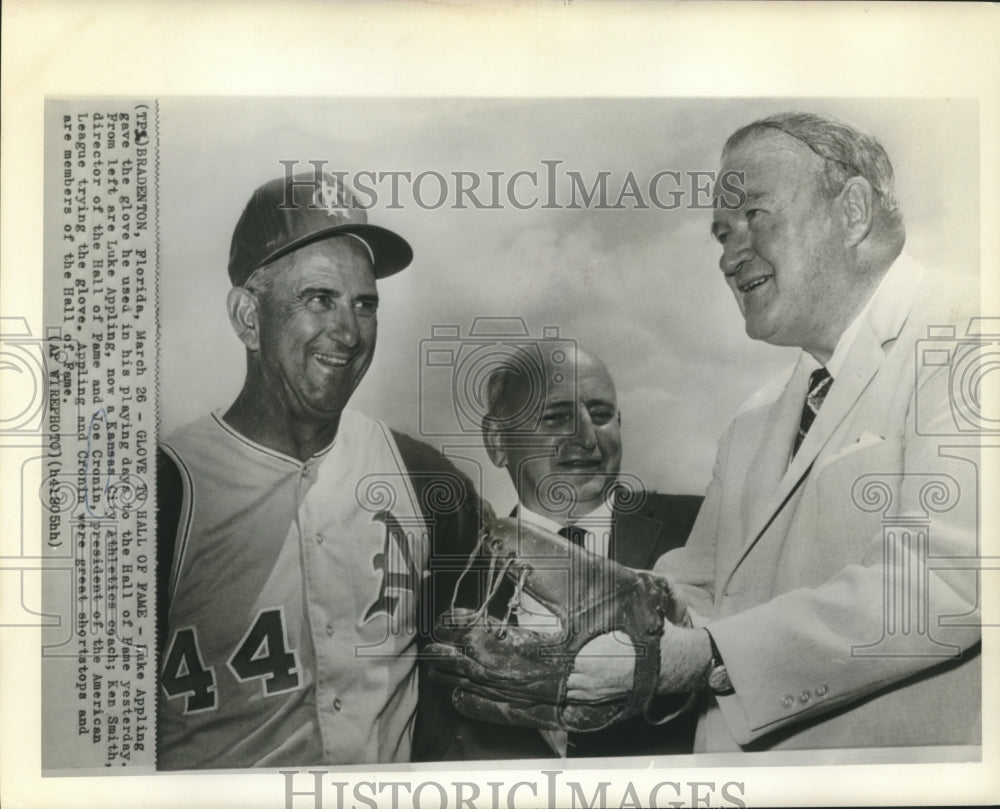
[[[902,255],[889,159],[853,127],[757,121],[728,171],[712,232],[747,334],[803,351],[656,566],[696,627],[665,632],[660,690],[708,692],[696,752],[978,744],[978,448],[952,384],[975,288]],[[630,682],[581,655],[570,697]]]

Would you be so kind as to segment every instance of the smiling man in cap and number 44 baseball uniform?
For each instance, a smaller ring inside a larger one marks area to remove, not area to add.
[[[346,408],[376,280],[411,259],[328,174],[262,185],[236,225],[243,388],[161,444],[161,769],[413,754],[416,650],[448,590],[430,558],[464,559],[479,515],[436,451]]]

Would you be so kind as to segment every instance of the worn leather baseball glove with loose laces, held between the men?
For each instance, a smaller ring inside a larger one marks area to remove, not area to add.
[[[452,702],[460,713],[576,732],[601,730],[643,713],[659,678],[663,622],[687,623],[686,609],[666,580],[512,518],[487,526],[477,555],[485,556],[488,566],[482,605],[457,609],[453,600],[438,620],[437,642],[426,650],[431,679],[454,686]],[[513,583],[513,596],[491,612],[504,579]],[[522,610],[530,599],[555,617],[557,631],[530,626]],[[612,631],[625,636],[622,654],[635,655],[631,692],[605,702],[569,701],[567,679],[577,653]]]

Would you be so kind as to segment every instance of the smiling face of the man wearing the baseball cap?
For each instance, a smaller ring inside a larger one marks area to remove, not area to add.
[[[259,395],[304,421],[347,404],[375,350],[378,292],[371,259],[351,238],[316,242],[278,259],[257,294]]]

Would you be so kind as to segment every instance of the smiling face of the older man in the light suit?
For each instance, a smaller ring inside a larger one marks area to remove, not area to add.
[[[723,156],[719,175],[743,172],[743,205],[719,205],[712,222],[747,334],[802,347],[820,362],[870,291],[852,270],[843,200],[827,192],[824,165],[783,132],[752,134]]]

